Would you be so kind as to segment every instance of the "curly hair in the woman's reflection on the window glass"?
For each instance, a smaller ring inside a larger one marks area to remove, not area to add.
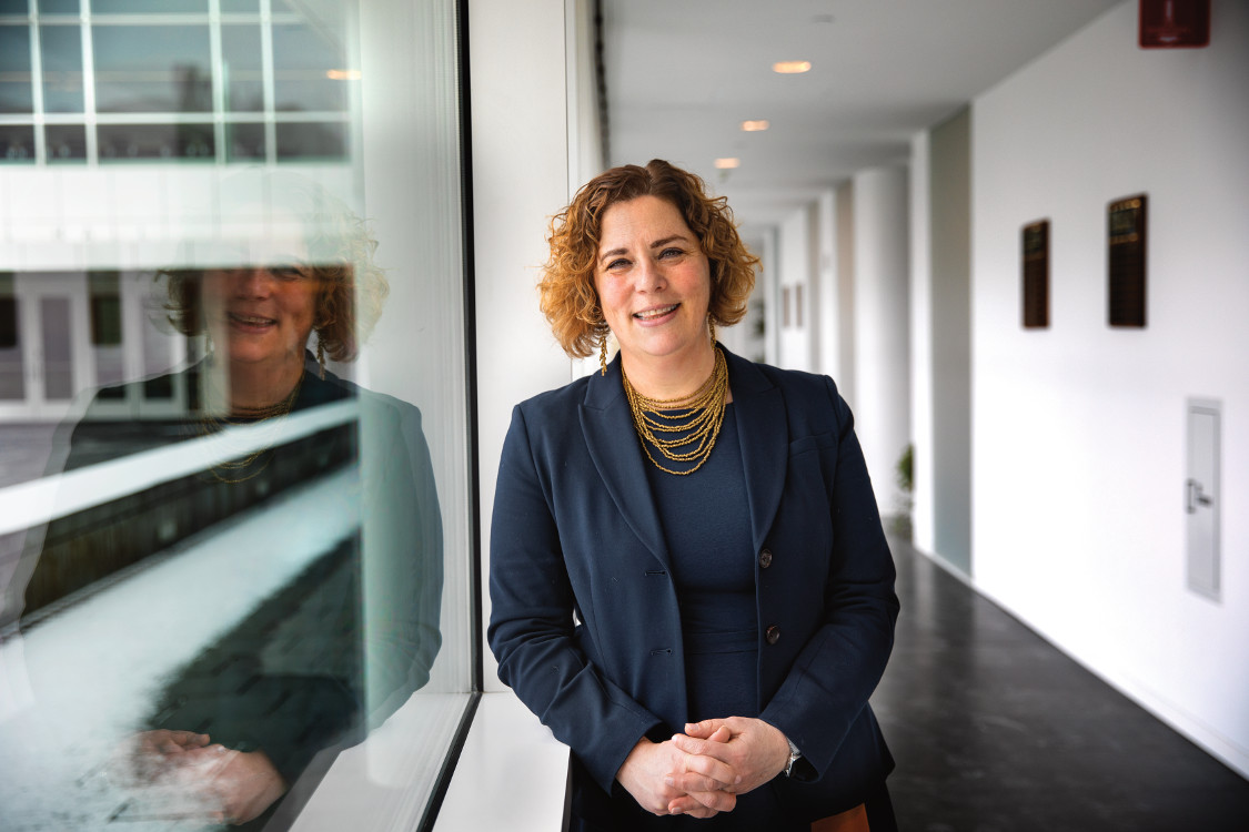
[[[353,360],[390,293],[385,269],[373,262],[377,241],[363,220],[311,180],[266,172],[261,185],[269,207],[290,213],[302,228],[309,278],[318,287],[312,318],[317,339],[331,359]],[[165,268],[156,274],[167,283],[169,322],[184,336],[205,331],[201,286],[207,271]]]

